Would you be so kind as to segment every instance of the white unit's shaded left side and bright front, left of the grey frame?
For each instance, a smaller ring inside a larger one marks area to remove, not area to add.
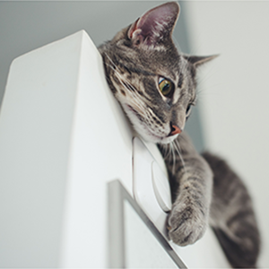
[[[0,267],[106,266],[106,182],[132,191],[132,133],[84,31],[13,62],[0,164]]]

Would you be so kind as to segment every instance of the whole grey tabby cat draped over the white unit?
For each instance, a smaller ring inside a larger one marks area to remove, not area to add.
[[[168,144],[175,148],[174,158],[165,158],[169,239],[193,244],[209,223],[230,265],[253,268],[260,239],[246,187],[225,161],[196,152],[183,132],[196,101],[196,69],[214,56],[178,53],[171,38],[178,13],[177,3],[162,4],[100,46],[108,85],[138,134],[164,158]]]

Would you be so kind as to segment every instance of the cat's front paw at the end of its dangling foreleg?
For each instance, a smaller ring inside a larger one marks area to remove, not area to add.
[[[194,244],[204,235],[207,217],[193,204],[175,203],[169,213],[168,235],[179,246]]]

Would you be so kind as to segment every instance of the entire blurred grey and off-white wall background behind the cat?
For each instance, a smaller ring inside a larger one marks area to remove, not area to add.
[[[13,59],[86,30],[96,46],[165,1],[1,1],[0,100]],[[220,56],[198,75],[199,104],[187,128],[197,149],[223,156],[244,178],[269,267],[269,2],[183,1],[174,31],[187,54]],[[266,124],[267,122],[267,124]]]

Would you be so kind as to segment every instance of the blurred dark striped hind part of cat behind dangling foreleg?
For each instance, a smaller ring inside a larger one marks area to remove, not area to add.
[[[255,268],[260,235],[247,188],[225,161],[203,156],[214,174],[210,224],[215,235],[232,267]]]

